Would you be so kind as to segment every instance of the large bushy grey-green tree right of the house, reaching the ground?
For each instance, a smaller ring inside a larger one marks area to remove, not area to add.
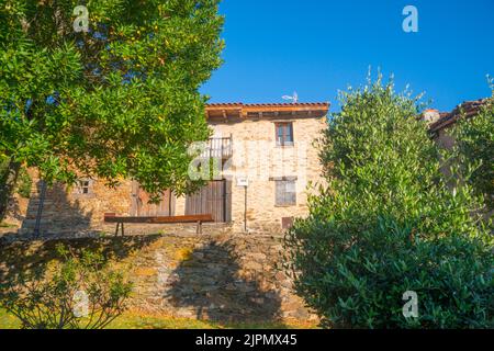
[[[323,327],[492,327],[492,237],[471,189],[447,186],[418,100],[381,78],[340,99],[322,140],[328,185],[285,237],[296,292]]]

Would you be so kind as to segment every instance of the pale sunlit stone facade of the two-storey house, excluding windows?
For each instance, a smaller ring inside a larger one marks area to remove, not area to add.
[[[326,127],[327,110],[323,107],[323,113],[311,116],[306,114],[306,107],[302,111],[292,107],[289,115],[263,117],[259,115],[262,112],[256,112],[256,117],[248,117],[249,112],[237,115],[236,110],[223,109],[218,106],[215,112],[222,111],[226,117],[212,115],[210,126],[214,137],[232,136],[233,140],[233,157],[223,167],[223,176],[232,181],[233,228],[244,231],[247,215],[248,231],[279,233],[283,217],[308,214],[307,194],[323,181],[314,143]],[[277,146],[276,124],[280,122],[292,123],[293,145]],[[247,199],[245,186],[237,184],[239,178],[248,180]],[[276,180],[283,178],[296,179],[296,203],[277,206]],[[179,199],[177,205],[183,211],[184,199]]]

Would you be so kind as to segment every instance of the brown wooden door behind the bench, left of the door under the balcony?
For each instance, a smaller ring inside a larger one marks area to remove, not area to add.
[[[175,216],[175,196],[170,190],[162,193],[161,201],[158,204],[151,204],[149,200],[149,194],[137,182],[133,182],[131,216]]]

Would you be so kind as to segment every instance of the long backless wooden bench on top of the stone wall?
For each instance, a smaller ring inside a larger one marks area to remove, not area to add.
[[[104,223],[116,223],[115,236],[119,235],[121,228],[122,236],[124,233],[124,224],[189,224],[198,225],[197,233],[202,234],[203,223],[213,223],[212,215],[193,215],[193,216],[169,216],[169,217],[117,217],[114,213],[104,214]]]

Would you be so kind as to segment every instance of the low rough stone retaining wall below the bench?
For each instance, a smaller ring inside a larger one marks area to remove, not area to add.
[[[46,264],[58,242],[0,244],[0,279]],[[64,242],[104,248],[134,283],[133,312],[220,322],[317,321],[282,270],[280,238],[156,235]]]

